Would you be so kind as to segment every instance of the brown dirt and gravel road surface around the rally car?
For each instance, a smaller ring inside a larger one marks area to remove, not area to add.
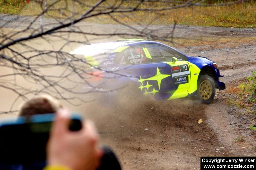
[[[33,19],[11,15],[0,15],[0,18],[4,31],[23,29]],[[44,19],[43,22],[48,26],[55,23],[52,19]],[[89,31],[118,29],[132,32],[129,28],[113,24],[78,25]],[[33,26],[38,27],[39,23]],[[150,26],[150,29],[158,29],[156,32],[162,34],[172,26]],[[198,36],[255,37],[256,30],[178,25],[174,35],[191,39]],[[80,37],[74,35],[73,38]],[[47,48],[48,45],[43,43],[38,40],[35,47],[45,45],[44,48]],[[224,75],[220,80],[226,83],[227,88],[237,85],[239,80],[256,71],[256,42],[238,43],[235,47],[223,45],[221,48],[219,45],[195,44],[179,50],[215,61]],[[14,94],[0,89],[0,95],[1,110],[8,109]],[[68,106],[95,121],[102,143],[114,149],[123,169],[199,169],[200,156],[255,156],[256,138],[250,134],[248,122],[235,116],[236,110],[228,107],[224,96],[225,91],[217,91],[214,101],[208,105],[179,99],[130,101],[115,108],[102,107],[99,103]],[[198,124],[199,119],[203,120],[201,124]],[[241,127],[244,128],[241,130]],[[241,136],[245,139],[243,143],[235,140]]]

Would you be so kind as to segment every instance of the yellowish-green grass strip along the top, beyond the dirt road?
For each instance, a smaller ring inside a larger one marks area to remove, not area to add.
[[[48,4],[55,0],[49,0]],[[86,4],[93,5],[96,0],[86,1]],[[116,0],[107,0],[102,5],[112,5]],[[120,1],[118,1],[120,2]],[[210,0],[208,3],[223,2],[219,0]],[[230,2],[230,1],[224,1]],[[130,7],[136,5],[136,1],[126,1],[122,7]],[[169,7],[168,3],[161,2],[145,2],[139,8],[162,8]],[[66,10],[61,10],[66,8]],[[70,0],[61,1],[54,5],[52,11],[45,14],[45,17],[58,17],[65,18],[72,16],[72,10],[75,8],[78,17],[89,7],[80,5]],[[42,11],[40,5],[31,1],[29,4],[25,0],[0,0],[0,13],[2,14],[20,14],[20,15],[36,15]],[[186,7],[174,10],[147,12],[136,11],[125,14],[112,14],[113,17],[123,23],[129,24],[160,24],[170,25],[178,23],[181,25],[198,25],[198,26],[223,26],[223,27],[256,27],[256,2],[250,0],[249,2],[232,5],[232,6],[212,6],[212,7]],[[101,15],[93,19],[87,20],[88,22],[97,23],[115,23],[107,15]]]

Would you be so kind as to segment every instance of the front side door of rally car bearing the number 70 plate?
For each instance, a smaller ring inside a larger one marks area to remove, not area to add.
[[[143,49],[157,70],[158,97],[173,99],[188,95],[190,69],[186,56],[162,45],[144,45]],[[172,57],[177,60],[172,62]]]

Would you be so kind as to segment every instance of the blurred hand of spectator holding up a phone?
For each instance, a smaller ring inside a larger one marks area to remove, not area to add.
[[[94,124],[87,120],[80,131],[70,131],[69,122],[68,110],[58,110],[48,141],[47,164],[72,170],[96,169],[103,151]]]

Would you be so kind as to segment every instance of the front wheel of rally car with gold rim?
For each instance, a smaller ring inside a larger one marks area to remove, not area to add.
[[[197,81],[197,97],[203,104],[212,102],[215,96],[214,80],[208,75],[201,75]]]

